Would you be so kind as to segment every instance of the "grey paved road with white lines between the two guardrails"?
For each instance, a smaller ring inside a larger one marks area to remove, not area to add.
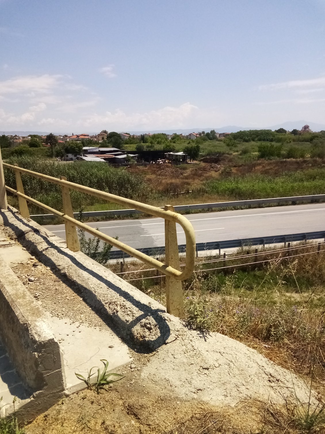
[[[325,230],[325,204],[190,214],[188,220],[194,227],[197,243],[313,232]],[[118,236],[120,241],[136,249],[165,245],[164,220],[161,218],[88,224],[111,237]],[[63,224],[45,227],[65,238]],[[178,243],[185,244],[185,234],[178,224],[177,233]]]

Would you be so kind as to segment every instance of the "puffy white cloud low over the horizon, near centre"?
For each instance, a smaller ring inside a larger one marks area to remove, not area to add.
[[[185,104],[179,107],[167,106],[150,112],[133,113],[130,115],[117,109],[114,113],[106,112],[104,115],[91,115],[79,123],[87,127],[114,125],[116,129],[132,127],[151,129],[181,128],[196,109],[198,108],[189,102],[185,102]]]

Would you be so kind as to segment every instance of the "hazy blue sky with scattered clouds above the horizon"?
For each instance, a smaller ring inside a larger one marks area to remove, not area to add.
[[[325,123],[325,0],[0,0],[0,131]]]

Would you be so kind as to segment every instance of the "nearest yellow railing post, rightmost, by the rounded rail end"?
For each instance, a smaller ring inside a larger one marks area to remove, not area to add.
[[[174,207],[165,205],[165,211],[174,211]],[[170,220],[165,220],[165,263],[180,270],[176,223]],[[169,276],[166,276],[166,304],[168,313],[184,318],[182,282]]]

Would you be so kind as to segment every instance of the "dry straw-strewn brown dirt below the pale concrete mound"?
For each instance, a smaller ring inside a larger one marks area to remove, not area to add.
[[[265,416],[266,404],[257,400],[218,408],[138,390],[124,378],[99,395],[84,390],[61,399],[27,426],[26,434],[262,433],[270,425]]]

